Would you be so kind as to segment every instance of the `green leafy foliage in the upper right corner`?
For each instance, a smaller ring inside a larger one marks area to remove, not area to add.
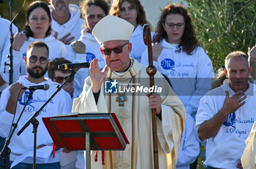
[[[225,56],[248,51],[256,40],[255,0],[187,0],[200,46],[214,69],[224,65]]]

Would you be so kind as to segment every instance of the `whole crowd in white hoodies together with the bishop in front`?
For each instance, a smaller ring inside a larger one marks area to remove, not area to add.
[[[24,29],[12,25],[11,46],[10,21],[0,17],[0,150],[18,122],[0,168],[33,168],[33,127],[21,135],[18,130],[72,74],[58,65],[83,62],[90,68],[80,68],[37,116],[37,168],[86,168],[82,150],[54,148],[42,117],[92,111],[115,113],[129,144],[124,151],[91,151],[91,168],[154,168],[151,109],[157,116],[159,168],[195,169],[200,145],[206,147],[208,169],[255,168],[256,46],[248,56],[230,51],[214,76],[189,12],[168,4],[150,31],[154,85],[160,90],[121,92],[121,84],[150,88],[146,23],[140,0],[83,0],[80,7],[69,0],[34,1]],[[28,89],[45,84],[46,91]]]

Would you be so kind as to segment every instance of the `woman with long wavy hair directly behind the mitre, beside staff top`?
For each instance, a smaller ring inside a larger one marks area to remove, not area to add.
[[[121,17],[135,26],[129,42],[132,43],[130,56],[140,62],[141,55],[146,49],[143,41],[143,25],[147,23],[146,12],[140,0],[113,0],[110,15]],[[154,33],[151,32],[153,35]]]

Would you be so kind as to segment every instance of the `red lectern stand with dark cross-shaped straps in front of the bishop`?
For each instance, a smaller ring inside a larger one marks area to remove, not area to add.
[[[116,114],[63,114],[42,118],[54,144],[70,150],[86,150],[86,168],[91,168],[91,150],[124,150],[129,144]]]

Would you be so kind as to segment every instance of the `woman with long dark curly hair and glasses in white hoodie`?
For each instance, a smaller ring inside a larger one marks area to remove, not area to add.
[[[187,114],[195,119],[200,98],[211,88],[213,68],[208,55],[199,47],[187,9],[167,5],[157,23],[153,42],[154,66],[168,77]],[[141,63],[148,65],[147,50],[143,52]],[[189,168],[199,154],[194,119],[186,121],[176,168]]]

